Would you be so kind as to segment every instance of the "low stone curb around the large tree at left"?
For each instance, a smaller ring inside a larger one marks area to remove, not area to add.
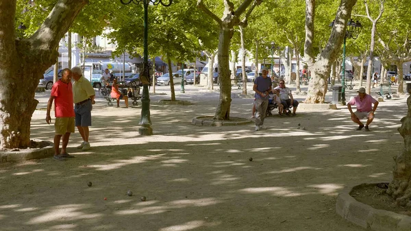
[[[39,149],[20,149],[20,151],[0,151],[0,163],[49,158],[54,154],[54,144],[49,141],[46,142],[49,143],[49,145]]]

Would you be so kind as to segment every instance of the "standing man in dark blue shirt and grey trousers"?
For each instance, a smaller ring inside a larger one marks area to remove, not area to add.
[[[271,92],[271,78],[267,76],[269,70],[262,69],[262,75],[256,77],[253,90],[256,92],[256,131],[264,129],[264,118],[266,116],[266,110],[269,106],[269,92]]]

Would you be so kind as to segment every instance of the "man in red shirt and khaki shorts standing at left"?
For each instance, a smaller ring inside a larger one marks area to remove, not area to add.
[[[64,69],[62,78],[53,84],[51,95],[47,103],[46,122],[50,124],[51,104],[55,101],[55,135],[54,135],[54,156],[53,160],[65,160],[73,158],[67,153],[66,147],[69,144],[71,132],[74,132],[74,108],[73,108],[73,87],[71,86],[71,70]],[[63,138],[62,138],[63,137]],[[60,152],[60,138],[62,138],[62,150]]]

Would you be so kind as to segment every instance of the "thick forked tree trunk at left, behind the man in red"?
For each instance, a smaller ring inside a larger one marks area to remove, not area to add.
[[[58,57],[60,38],[86,0],[60,0],[30,38],[16,38],[16,0],[0,0],[0,149],[30,144],[38,80]],[[23,83],[23,84],[22,84]]]

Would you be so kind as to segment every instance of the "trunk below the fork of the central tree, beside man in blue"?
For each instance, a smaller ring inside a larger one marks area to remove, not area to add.
[[[218,120],[229,119],[229,107],[232,101],[232,84],[229,76],[229,43],[232,36],[232,28],[221,28],[219,36],[220,101],[214,114],[214,119]]]

